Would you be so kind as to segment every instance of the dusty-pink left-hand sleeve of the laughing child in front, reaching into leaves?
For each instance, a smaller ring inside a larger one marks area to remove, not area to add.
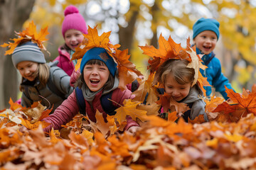
[[[60,106],[58,106],[58,108],[56,108],[53,114],[43,119],[47,123],[51,123],[47,128],[44,128],[43,130],[45,132],[49,132],[51,128],[59,130],[61,125],[65,125],[70,120],[72,120],[73,117],[78,114],[78,112],[79,108],[74,90],[73,93],[70,94],[70,96],[68,96],[68,98],[63,101]]]

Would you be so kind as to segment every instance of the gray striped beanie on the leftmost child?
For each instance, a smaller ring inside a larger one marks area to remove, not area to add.
[[[18,45],[13,52],[12,61],[14,63],[14,67],[17,68],[17,64],[19,62],[38,62],[38,63],[46,63],[46,59],[43,55],[43,52],[40,50],[36,43],[31,41],[24,42],[21,45]]]

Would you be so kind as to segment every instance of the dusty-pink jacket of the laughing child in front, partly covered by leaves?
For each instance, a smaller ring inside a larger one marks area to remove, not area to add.
[[[85,101],[86,113],[88,118],[90,118],[92,122],[96,122],[96,118],[95,118],[96,109],[100,111],[100,113],[102,113],[103,118],[107,117],[107,113],[103,111],[103,108],[100,104],[101,96],[102,96],[102,91],[96,94],[95,98],[92,101],[92,106],[90,106],[90,104],[87,101]],[[117,103],[122,105],[124,99],[128,99],[128,98],[134,98],[132,91],[129,91],[128,89],[125,91],[122,91],[120,89],[115,89],[112,93],[111,99],[112,101],[114,101],[112,102],[113,106],[119,107]],[[56,110],[52,115],[50,115],[48,118],[43,119],[46,122],[51,123],[51,125],[45,128],[44,131],[49,132],[51,128],[54,128],[55,130],[60,129],[61,125],[65,125],[70,120],[72,120],[73,117],[76,114],[78,114],[78,112],[79,112],[79,108],[78,108],[78,103],[75,97],[75,90],[74,90],[73,93],[70,94],[70,96],[68,96],[68,98],[65,101],[63,101],[63,103],[58,108],[56,108]],[[131,117],[127,116],[127,125],[124,128],[124,130],[128,130],[132,126],[139,126],[139,124],[134,120],[132,120]]]

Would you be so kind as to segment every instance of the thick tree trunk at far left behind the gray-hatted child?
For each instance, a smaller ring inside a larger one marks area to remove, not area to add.
[[[21,31],[28,19],[35,0],[0,0],[0,45],[15,38],[15,31]],[[7,48],[0,47],[0,110],[9,108],[9,99],[16,101],[18,93],[17,70],[10,55],[4,55]]]

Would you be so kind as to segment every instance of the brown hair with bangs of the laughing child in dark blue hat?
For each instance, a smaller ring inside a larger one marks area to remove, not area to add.
[[[85,65],[92,65],[92,64],[98,64],[98,65],[105,65],[106,64],[100,60],[90,60],[88,61]],[[75,87],[79,87],[80,89],[82,88],[82,84],[85,84],[85,79],[84,79],[84,74],[83,72],[80,74],[80,77],[78,77],[78,80],[75,82]],[[86,84],[85,84],[86,86]],[[114,86],[114,77],[112,74],[109,75],[109,78],[107,79],[106,84],[103,86],[104,90],[110,90]]]

